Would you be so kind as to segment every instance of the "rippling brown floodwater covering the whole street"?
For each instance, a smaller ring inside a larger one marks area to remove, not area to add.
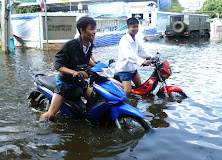
[[[222,35],[210,40],[161,39],[146,42],[172,67],[168,85],[188,95],[170,101],[130,96],[127,103],[146,115],[151,133],[129,135],[115,127],[95,127],[63,118],[39,121],[26,100],[37,73],[57,75],[55,52],[16,49],[0,54],[0,159],[53,160],[220,160],[222,155]],[[97,60],[117,59],[118,47],[95,48]],[[152,67],[141,67],[145,81]]]

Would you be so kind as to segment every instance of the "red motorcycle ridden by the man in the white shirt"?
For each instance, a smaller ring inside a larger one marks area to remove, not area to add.
[[[159,54],[159,53],[158,53]],[[109,65],[113,63],[114,60],[109,61]],[[149,94],[151,93],[156,87],[158,82],[161,83],[159,91],[157,92],[158,96],[165,96],[165,97],[175,97],[175,96],[182,96],[182,98],[187,98],[187,95],[183,92],[183,90],[176,86],[168,86],[166,84],[166,80],[170,77],[172,74],[171,72],[171,66],[169,65],[167,60],[164,60],[162,63],[159,59],[150,59],[151,64],[154,66],[154,72],[150,76],[150,78],[143,83],[140,87],[136,88],[132,86],[131,93],[133,94]],[[121,87],[123,87],[118,73],[114,75],[113,78],[110,78],[110,80],[116,82]]]

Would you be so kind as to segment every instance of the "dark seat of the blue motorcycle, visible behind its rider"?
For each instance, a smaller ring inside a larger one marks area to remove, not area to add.
[[[38,77],[39,82],[45,86],[46,88],[48,88],[51,91],[54,91],[55,87],[56,87],[56,78],[55,77],[51,77],[51,76],[40,76]]]

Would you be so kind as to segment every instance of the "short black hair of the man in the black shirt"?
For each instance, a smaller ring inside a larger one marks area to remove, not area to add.
[[[77,21],[77,30],[79,31],[79,34],[81,34],[80,32],[80,28],[82,28],[83,30],[86,30],[86,27],[91,24],[93,27],[96,26],[96,21],[88,16],[84,16],[81,17],[78,21]]]

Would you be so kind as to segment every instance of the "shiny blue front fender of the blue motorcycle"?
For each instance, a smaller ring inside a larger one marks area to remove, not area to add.
[[[112,107],[110,114],[113,121],[115,121],[120,114],[145,117],[139,110],[125,103]]]

